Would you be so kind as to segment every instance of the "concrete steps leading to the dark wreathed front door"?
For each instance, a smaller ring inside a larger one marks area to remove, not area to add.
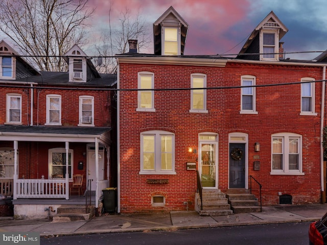
[[[246,189],[228,189],[226,197],[234,213],[260,212],[260,205],[255,195]]]

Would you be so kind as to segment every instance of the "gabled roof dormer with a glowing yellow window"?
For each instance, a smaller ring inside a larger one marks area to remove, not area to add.
[[[171,6],[153,23],[154,54],[183,55],[189,24]]]

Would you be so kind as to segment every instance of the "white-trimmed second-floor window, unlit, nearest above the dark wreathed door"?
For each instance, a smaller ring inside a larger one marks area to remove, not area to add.
[[[255,77],[246,75],[241,77],[241,112],[258,114],[255,109]]]

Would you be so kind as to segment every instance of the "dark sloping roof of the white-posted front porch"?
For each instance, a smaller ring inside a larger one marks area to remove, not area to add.
[[[0,132],[7,133],[101,135],[110,130],[111,128],[105,127],[49,127],[0,125]]]

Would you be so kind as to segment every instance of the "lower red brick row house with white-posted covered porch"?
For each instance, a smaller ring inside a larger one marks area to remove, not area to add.
[[[16,217],[85,205],[86,188],[97,208],[116,176],[110,160],[116,75],[100,75],[78,45],[64,57],[67,72],[40,72],[0,42],[1,194],[11,197]],[[82,188],[70,193],[76,174]]]

